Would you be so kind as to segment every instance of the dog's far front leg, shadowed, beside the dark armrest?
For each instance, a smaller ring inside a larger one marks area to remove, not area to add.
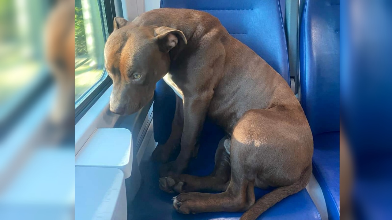
[[[183,103],[182,99],[176,96],[176,110],[174,112],[174,118],[172,121],[172,128],[169,139],[164,144],[158,144],[152,152],[151,158],[155,161],[166,163],[172,157],[174,159],[177,155],[174,155],[176,148],[180,148],[182,130],[184,126],[184,114],[183,114]]]

